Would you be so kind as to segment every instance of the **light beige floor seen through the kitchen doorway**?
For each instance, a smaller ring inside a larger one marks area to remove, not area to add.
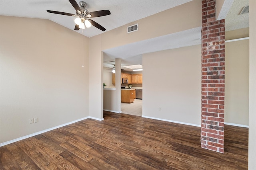
[[[142,100],[135,99],[133,103],[121,103],[121,113],[142,116]]]

